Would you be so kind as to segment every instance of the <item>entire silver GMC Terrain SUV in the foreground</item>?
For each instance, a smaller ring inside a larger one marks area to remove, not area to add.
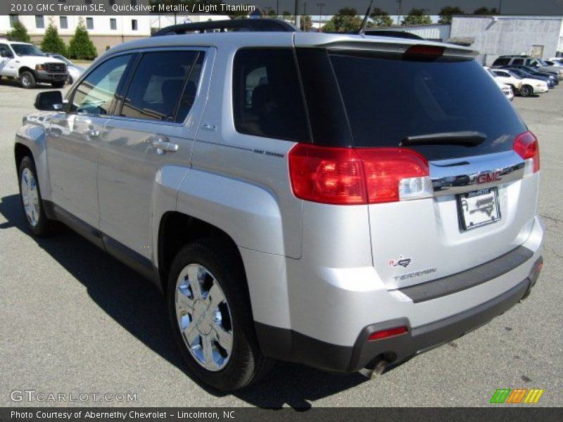
[[[39,94],[15,164],[32,234],[62,222],[156,283],[196,377],[381,373],[529,294],[538,141],[474,51],[270,20],[157,35]]]

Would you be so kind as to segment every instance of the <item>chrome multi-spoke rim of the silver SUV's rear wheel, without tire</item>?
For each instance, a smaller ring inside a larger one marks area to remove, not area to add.
[[[227,365],[233,348],[229,305],[208,269],[189,264],[176,281],[176,317],[191,356],[208,371]]]

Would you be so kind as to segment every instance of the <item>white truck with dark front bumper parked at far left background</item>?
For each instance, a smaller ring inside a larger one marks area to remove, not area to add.
[[[0,39],[0,77],[19,79],[23,88],[38,82],[62,88],[68,79],[66,64],[46,56],[33,44]]]

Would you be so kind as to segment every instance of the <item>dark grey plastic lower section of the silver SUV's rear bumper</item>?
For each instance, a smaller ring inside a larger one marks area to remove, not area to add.
[[[371,324],[362,329],[355,344],[350,347],[326,343],[290,329],[258,322],[255,323],[255,329],[262,352],[275,359],[339,372],[355,372],[371,367],[381,359],[398,363],[479,328],[526,298],[538,279],[541,262],[540,257],[534,262],[526,279],[481,305],[415,328],[412,328],[407,317]],[[371,333],[398,326],[406,326],[407,333],[368,340]]]

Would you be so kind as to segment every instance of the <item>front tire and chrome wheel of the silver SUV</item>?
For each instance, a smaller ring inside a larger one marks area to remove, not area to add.
[[[21,160],[18,169],[20,198],[27,229],[35,236],[48,236],[56,231],[57,222],[45,215],[35,164],[29,156]]]

